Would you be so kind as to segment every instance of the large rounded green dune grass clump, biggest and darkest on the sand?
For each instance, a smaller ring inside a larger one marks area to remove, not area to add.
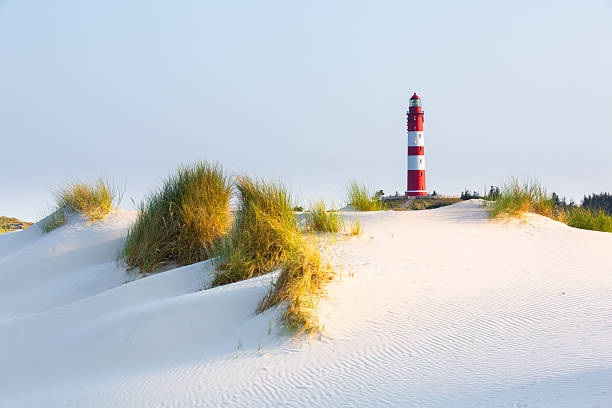
[[[230,179],[220,165],[180,167],[140,204],[123,257],[149,272],[167,261],[189,265],[208,259],[231,222]]]

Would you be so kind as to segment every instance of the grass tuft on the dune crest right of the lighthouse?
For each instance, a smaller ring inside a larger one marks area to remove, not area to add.
[[[491,217],[516,217],[525,212],[535,212],[552,218],[556,216],[553,201],[537,181],[527,180],[520,184],[517,179],[511,179],[497,194],[497,200],[489,206]]]

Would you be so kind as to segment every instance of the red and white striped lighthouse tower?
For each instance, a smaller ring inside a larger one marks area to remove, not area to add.
[[[410,98],[408,105],[408,177],[407,196],[427,195],[425,190],[425,136],[423,120],[425,113],[421,107],[421,98],[416,94]]]

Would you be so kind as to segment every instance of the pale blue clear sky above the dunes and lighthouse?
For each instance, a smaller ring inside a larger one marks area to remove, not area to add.
[[[301,204],[401,194],[413,92],[429,191],[579,201],[612,191],[610,44],[610,0],[0,0],[0,215],[76,178],[135,208],[195,160]]]

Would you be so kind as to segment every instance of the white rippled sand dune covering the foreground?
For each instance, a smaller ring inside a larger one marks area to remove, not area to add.
[[[133,213],[0,235],[0,406],[612,406],[612,234],[476,200],[344,215],[365,233],[326,249],[307,340],[254,314],[271,276],[134,280]]]

